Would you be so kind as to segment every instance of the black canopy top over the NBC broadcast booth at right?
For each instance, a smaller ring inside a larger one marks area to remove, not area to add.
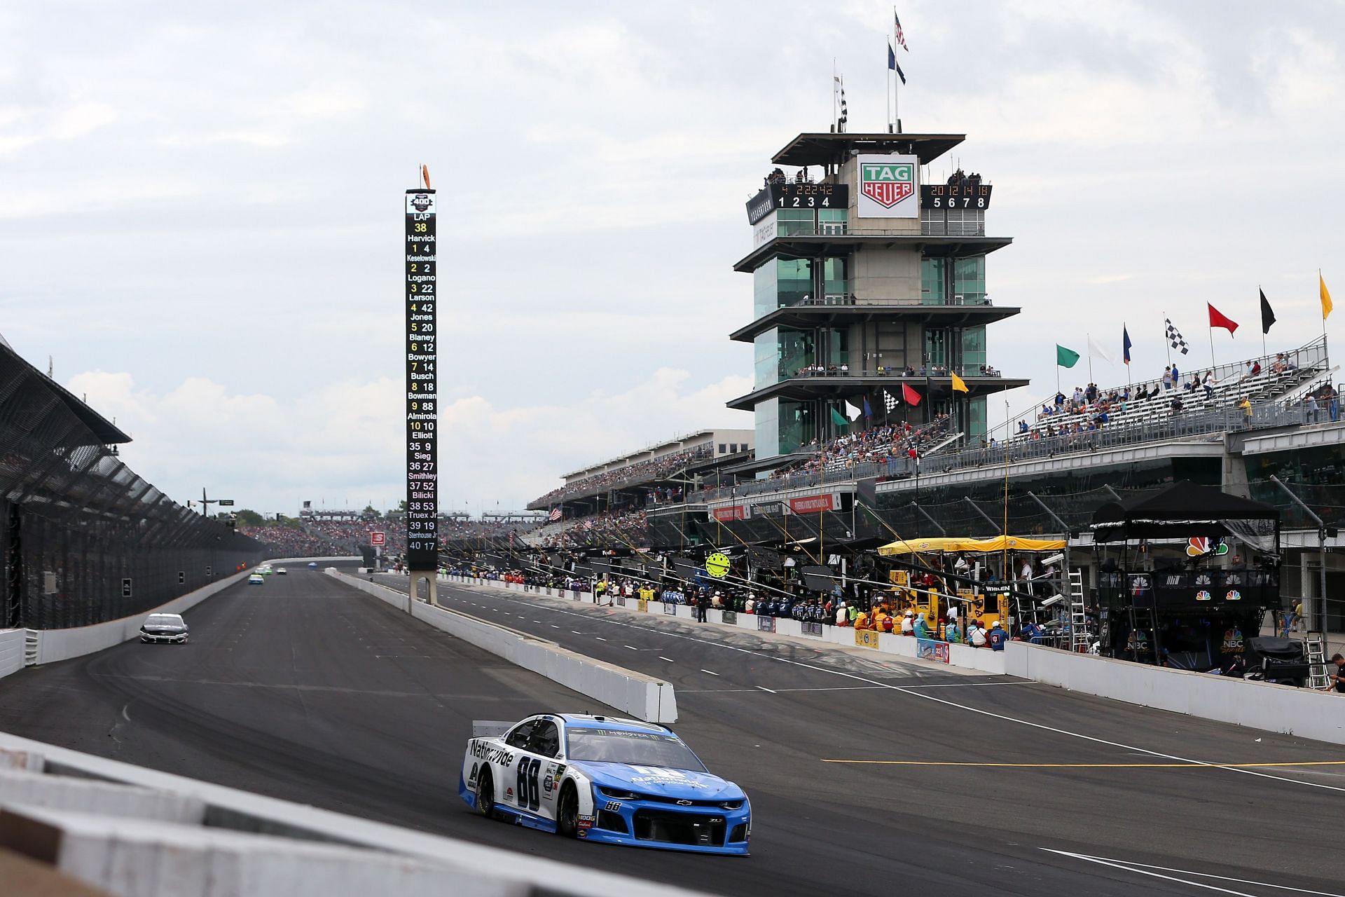
[[[1237,538],[1278,553],[1279,508],[1182,480],[1151,495],[1108,502],[1093,512],[1093,542]]]

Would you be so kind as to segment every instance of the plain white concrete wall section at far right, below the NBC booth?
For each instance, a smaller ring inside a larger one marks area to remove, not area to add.
[[[1024,679],[1202,719],[1345,744],[1345,701],[1338,695],[1024,641],[1010,641],[1005,655],[1006,672]]]

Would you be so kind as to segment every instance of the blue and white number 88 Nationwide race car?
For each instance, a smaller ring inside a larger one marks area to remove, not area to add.
[[[746,795],[667,726],[543,713],[472,729],[457,792],[483,816],[613,845],[748,853]]]

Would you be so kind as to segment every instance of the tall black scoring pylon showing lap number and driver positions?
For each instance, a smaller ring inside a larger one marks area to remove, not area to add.
[[[438,568],[434,191],[406,191],[406,566]]]

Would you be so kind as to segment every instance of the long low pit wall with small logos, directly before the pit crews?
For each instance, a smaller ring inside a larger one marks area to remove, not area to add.
[[[456,576],[447,577],[447,580],[452,582],[463,582],[465,585],[494,586],[523,594],[542,594],[547,597],[572,598],[576,601],[593,600],[593,596],[588,592],[574,593],[570,589],[549,589],[546,586],[527,586],[516,582],[502,582],[499,580],[473,580],[471,577]],[[683,620],[695,620],[695,608],[687,604],[666,605],[662,601],[655,600],[650,601],[648,607],[643,611],[639,604],[639,601],[627,602],[624,609],[629,613],[644,612],[655,616],[675,616]],[[892,654],[900,658],[911,658],[913,660],[933,660],[936,663],[948,663],[950,666],[966,667],[968,670],[979,670],[982,672],[991,674],[1005,672],[1003,652],[991,651],[990,648],[972,648],[966,644],[950,644],[948,656],[947,660],[944,660],[943,658],[921,656],[920,646],[917,644],[919,639],[894,632],[855,631],[850,627],[808,624],[788,617],[765,617],[752,613],[734,613],[733,611],[712,609],[706,612],[706,619],[714,623],[733,625],[738,629],[749,629],[752,632],[775,632],[776,635],[798,636],[800,639],[818,639],[819,641],[835,644],[838,647],[872,648],[880,654]]]

